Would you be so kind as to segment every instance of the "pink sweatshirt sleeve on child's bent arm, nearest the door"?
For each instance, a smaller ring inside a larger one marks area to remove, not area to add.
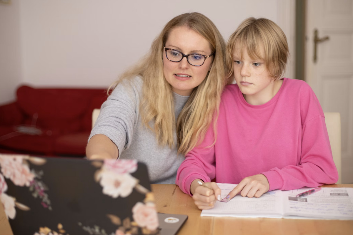
[[[317,187],[335,184],[338,180],[324,114],[309,85],[300,92],[300,110],[302,133],[299,163],[297,166],[262,172],[269,181],[269,190]]]

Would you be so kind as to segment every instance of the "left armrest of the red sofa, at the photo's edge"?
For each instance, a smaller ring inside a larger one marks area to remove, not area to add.
[[[23,122],[23,114],[16,102],[0,106],[0,125],[18,125]]]

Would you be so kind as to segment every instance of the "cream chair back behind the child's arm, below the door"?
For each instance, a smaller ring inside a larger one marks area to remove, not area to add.
[[[342,184],[341,163],[341,115],[339,112],[324,112],[327,132],[329,134],[333,161],[338,171],[337,184]]]

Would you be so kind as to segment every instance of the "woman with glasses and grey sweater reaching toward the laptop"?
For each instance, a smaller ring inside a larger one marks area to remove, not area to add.
[[[87,157],[136,159],[146,163],[152,183],[174,184],[184,154],[217,118],[224,55],[224,39],[203,14],[170,20],[142,61],[112,85]]]

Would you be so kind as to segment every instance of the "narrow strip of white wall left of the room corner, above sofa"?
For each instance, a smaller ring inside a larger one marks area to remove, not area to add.
[[[19,4],[0,4],[0,104],[14,100],[22,81]]]

